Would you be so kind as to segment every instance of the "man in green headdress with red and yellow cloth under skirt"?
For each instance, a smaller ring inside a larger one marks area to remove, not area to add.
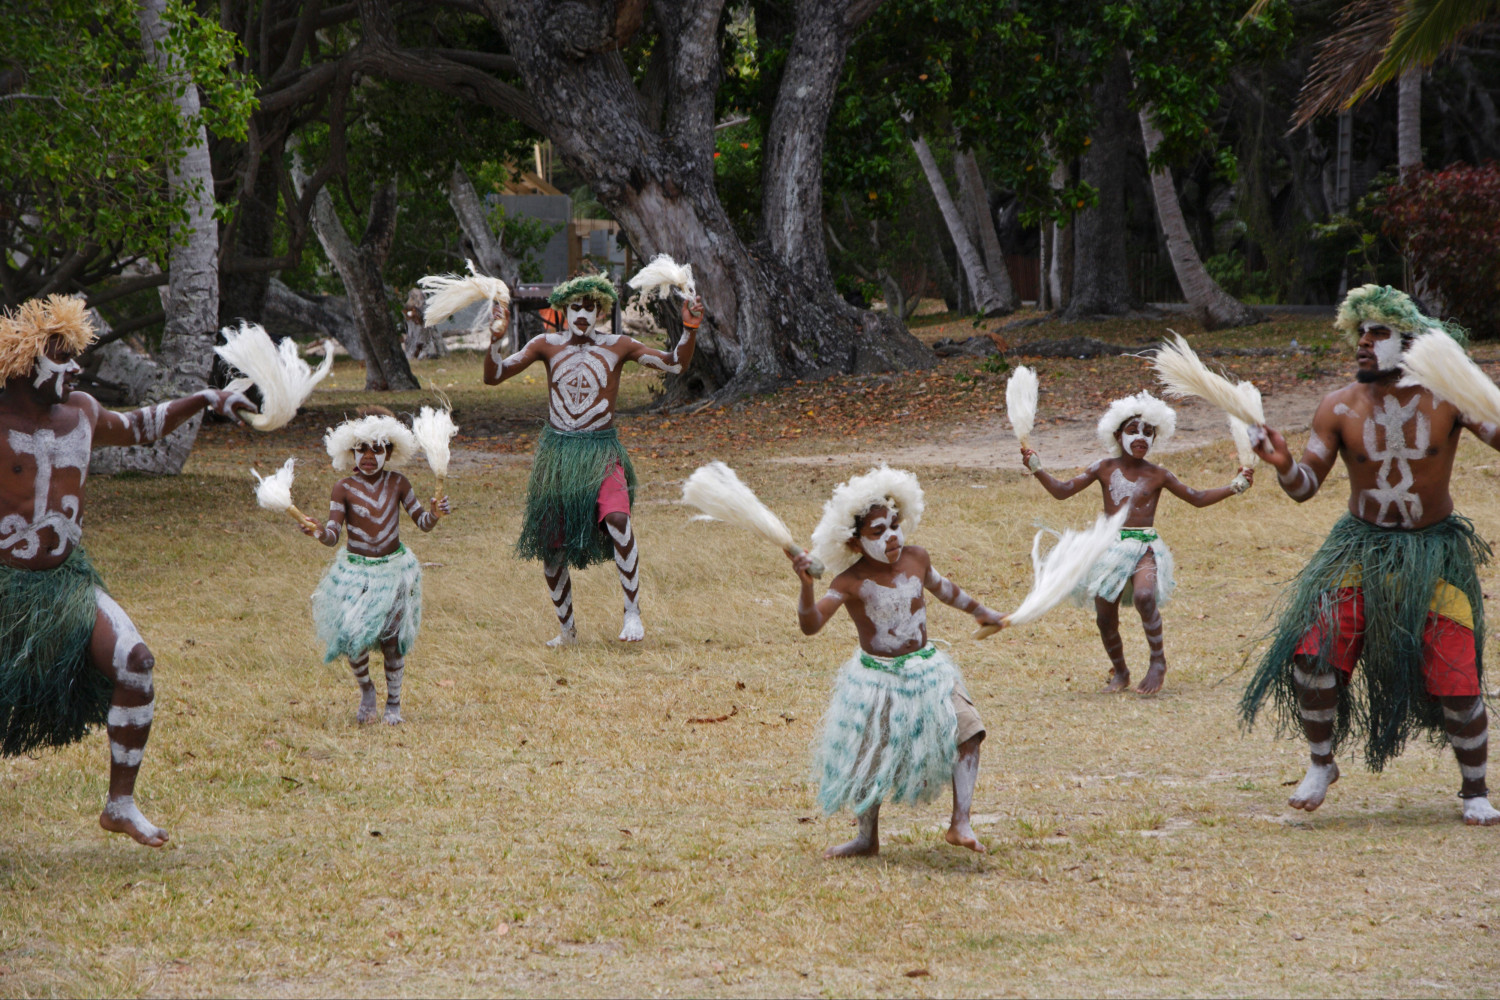
[[[1292,459],[1278,432],[1260,427],[1256,436],[1281,489],[1299,504],[1342,460],[1348,510],[1286,589],[1240,711],[1252,723],[1270,699],[1284,726],[1300,724],[1311,762],[1292,808],[1323,805],[1338,781],[1334,756],[1350,736],[1364,739],[1365,763],[1380,771],[1410,736],[1446,735],[1462,777],[1464,822],[1500,825],[1485,786],[1490,721],[1476,574],[1490,546],[1454,511],[1449,493],[1462,430],[1500,448],[1500,429],[1401,379],[1413,337],[1442,331],[1462,345],[1460,327],[1383,285],[1348,292],[1335,325],[1354,348],[1354,381],[1318,403],[1302,460]]]

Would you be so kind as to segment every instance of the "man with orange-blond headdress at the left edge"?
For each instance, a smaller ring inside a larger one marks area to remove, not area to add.
[[[160,847],[166,831],[135,805],[156,658],[84,553],[88,456],[160,441],[206,409],[238,420],[255,406],[206,388],[108,411],[72,387],[94,336],[76,298],[51,295],[0,315],[0,753],[66,747],[104,724],[110,795],[99,826]]]

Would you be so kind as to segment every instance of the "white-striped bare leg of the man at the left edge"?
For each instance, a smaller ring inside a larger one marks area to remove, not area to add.
[[[105,720],[110,733],[110,798],[99,814],[99,826],[111,834],[128,834],[147,847],[160,847],[168,840],[166,831],[141,816],[135,805],[135,777],[141,771],[156,708],[152,682],[156,658],[114,598],[96,588],[94,600],[99,613],[88,655],[94,669],[114,684]]]

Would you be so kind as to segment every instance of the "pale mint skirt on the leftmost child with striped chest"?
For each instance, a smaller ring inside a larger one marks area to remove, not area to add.
[[[405,657],[422,628],[422,564],[406,546],[380,559],[339,549],[312,592],[312,624],[324,663],[392,640]]]

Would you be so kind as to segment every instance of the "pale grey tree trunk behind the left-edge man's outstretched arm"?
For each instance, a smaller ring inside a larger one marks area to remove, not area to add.
[[[200,115],[198,87],[194,85],[165,46],[171,25],[162,19],[165,0],[141,0],[138,19],[141,46],[159,69],[174,73],[183,84],[174,97],[184,120]],[[166,172],[168,189],[186,198],[188,217],[172,223],[172,249],[168,258],[168,283],[164,307],[166,328],[156,355],[159,373],[147,400],[176,399],[204,388],[213,370],[213,342],[219,333],[219,226],[213,217],[213,166],[208,160],[208,133],[198,126],[192,145]],[[202,414],[154,445],[99,448],[90,468],[98,472],[182,472]]]

